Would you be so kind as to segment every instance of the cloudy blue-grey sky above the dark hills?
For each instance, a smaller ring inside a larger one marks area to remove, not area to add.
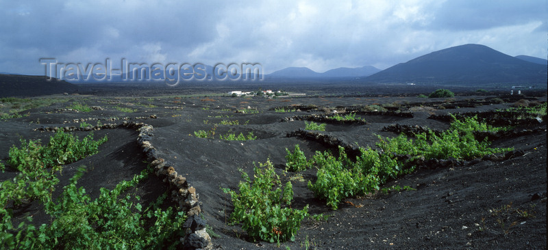
[[[385,69],[469,43],[546,59],[547,20],[547,0],[0,0],[0,72],[45,74],[40,58]]]

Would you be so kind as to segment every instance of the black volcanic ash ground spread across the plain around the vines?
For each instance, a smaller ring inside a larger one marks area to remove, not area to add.
[[[86,119],[92,125],[97,121],[103,124],[121,124],[125,120],[144,122],[154,128],[151,143],[158,155],[173,163],[177,173],[185,176],[199,193],[202,214],[217,234],[212,235],[216,249],[306,249],[307,245],[308,249],[546,249],[545,121],[503,117],[501,120],[506,120],[507,124],[493,125],[511,124],[515,133],[497,137],[491,146],[513,147],[510,156],[425,165],[384,185],[411,186],[416,190],[345,199],[338,210],[325,206],[324,201],[316,199],[307,189],[306,182],[315,178],[314,169],[302,172],[302,178],[296,173],[282,174],[286,163],[285,148],[292,149],[299,144],[307,157],[315,150],[333,148],[313,139],[288,137],[288,133],[304,128],[305,124],[302,120],[286,122],[287,117],[360,110],[371,105],[386,107],[388,112],[358,112],[366,124],[327,124],[322,133],[347,144],[375,147],[377,135],[398,135],[384,131],[385,126],[418,125],[445,130],[449,122],[440,117],[447,113],[478,112],[481,116],[514,107],[516,103],[538,105],[546,102],[545,90],[527,89],[523,91],[524,95],[510,96],[507,89],[490,89],[485,93],[462,87],[452,89],[457,94],[455,98],[417,98],[417,94],[429,94],[439,86],[371,85],[358,88],[352,83],[280,86],[292,92],[301,90],[308,96],[274,99],[215,96],[213,93],[226,93],[234,87],[214,84],[175,89],[79,85],[82,95],[56,96],[68,101],[29,109],[25,111],[28,113],[25,117],[0,120],[0,160],[5,163],[10,147],[18,146],[20,137],[47,141],[53,135],[40,132],[40,128],[79,127],[80,119]],[[257,85],[242,85],[240,89],[256,91]],[[73,102],[101,109],[88,113],[66,109]],[[116,107],[133,110],[123,112]],[[275,107],[299,110],[278,113],[273,110]],[[256,109],[258,113],[235,112],[241,109]],[[400,113],[412,113],[412,117]],[[224,141],[194,136],[195,131],[210,130],[222,120],[238,120],[239,125],[219,125],[216,133],[253,132],[258,139]],[[73,133],[80,137],[87,134]],[[61,184],[68,183],[77,167],[86,165],[88,172],[78,184],[93,196],[98,195],[100,187],[112,188],[147,167],[143,162],[146,158],[136,143],[136,131],[126,128],[95,131],[95,138],[103,135],[108,135],[109,140],[101,145],[99,154],[66,165],[60,176]],[[294,208],[308,204],[310,214],[328,215],[327,221],[306,219],[295,242],[283,242],[280,246],[253,242],[239,225],[227,225],[233,207],[229,196],[221,191],[221,188],[236,189],[242,180],[238,169],[251,173],[253,162],[267,159],[274,163],[284,181],[294,180]],[[7,167],[5,173],[0,173],[0,180],[15,174]],[[155,199],[166,189],[166,185],[155,177],[141,187],[139,195],[145,201]],[[523,211],[529,215],[523,216]],[[20,217],[34,214],[34,222],[38,225],[48,221],[40,212],[40,206],[28,206],[18,214]]]

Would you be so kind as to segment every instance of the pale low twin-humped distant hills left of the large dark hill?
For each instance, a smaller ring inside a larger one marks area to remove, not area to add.
[[[335,68],[319,73],[306,67],[289,67],[282,70],[277,70],[268,74],[268,78],[288,78],[288,79],[312,79],[312,78],[349,78],[349,77],[366,77],[376,72],[378,68],[373,66],[363,66],[360,68]]]

